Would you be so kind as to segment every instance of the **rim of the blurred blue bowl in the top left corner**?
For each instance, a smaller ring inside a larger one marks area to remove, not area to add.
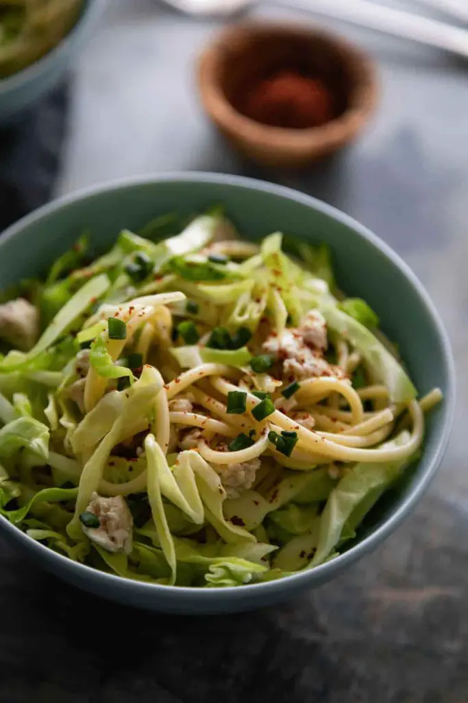
[[[60,59],[60,56],[66,55],[75,42],[85,34],[88,27],[98,18],[105,6],[107,6],[107,0],[85,0],[81,15],[74,23],[72,29],[65,34],[65,37],[60,39],[58,44],[53,46],[53,49],[22,70],[13,73],[11,76],[0,78],[0,96],[4,93],[18,90],[26,83],[34,81],[41,73],[46,72],[58,58]]]

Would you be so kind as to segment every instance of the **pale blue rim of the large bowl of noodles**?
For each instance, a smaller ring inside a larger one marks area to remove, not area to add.
[[[21,531],[18,527],[9,522],[3,515],[0,515],[0,525],[2,529],[6,529],[10,534],[15,536],[18,541],[22,541],[25,547],[29,548],[31,551],[35,551],[36,557],[44,557],[46,562],[55,562],[55,565],[57,565],[60,571],[65,573],[74,572],[78,577],[81,575],[83,580],[88,580],[89,578],[91,581],[95,581],[95,583],[99,582],[103,587],[107,586],[109,589],[114,586],[116,588],[116,593],[126,591],[126,588],[128,588],[135,595],[140,594],[142,596],[148,596],[153,594],[156,600],[159,596],[161,596],[161,600],[166,600],[166,602],[168,600],[171,600],[171,602],[175,602],[179,599],[184,600],[187,596],[189,596],[194,605],[199,604],[200,606],[208,606],[210,600],[212,599],[213,601],[216,600],[218,604],[225,603],[226,605],[229,605],[229,603],[232,604],[233,602],[242,600],[243,597],[248,598],[249,596],[257,596],[261,598],[262,594],[267,596],[269,593],[278,591],[278,589],[282,590],[284,588],[285,591],[288,591],[293,588],[299,589],[301,587],[305,587],[307,584],[312,587],[314,582],[321,583],[321,581],[325,581],[327,572],[338,573],[342,571],[342,569],[352,565],[353,562],[372,551],[373,548],[375,548],[381,541],[387,538],[415,507],[417,501],[419,501],[429,486],[429,483],[432,481],[441,459],[443,458],[443,454],[446,451],[453,425],[453,415],[455,412],[455,362],[453,359],[453,352],[450,346],[448,334],[446,333],[446,329],[443,326],[432,299],[429,297],[429,294],[425,290],[422,283],[420,283],[420,280],[417,278],[415,273],[413,273],[412,269],[410,269],[410,266],[408,266],[408,264],[401,259],[399,254],[394,252],[394,250],[392,250],[387,243],[378,238],[373,232],[366,228],[366,226],[363,226],[354,218],[333,207],[333,205],[328,205],[328,203],[322,202],[321,200],[314,198],[312,195],[307,195],[306,193],[301,193],[300,191],[295,191],[292,188],[287,188],[285,186],[268,183],[267,181],[246,178],[245,176],[234,176],[210,172],[165,172],[145,176],[132,176],[94,186],[88,186],[87,188],[75,191],[74,193],[69,193],[68,195],[62,196],[62,198],[58,198],[47,205],[39,207],[34,210],[34,212],[26,215],[15,224],[8,227],[0,236],[0,252],[3,243],[17,236],[22,229],[34,224],[36,221],[44,219],[49,214],[57,210],[66,209],[73,203],[86,200],[90,197],[102,195],[104,193],[111,193],[122,189],[126,190],[127,188],[138,188],[139,186],[152,185],[157,187],[159,183],[221,184],[228,187],[236,186],[238,188],[245,188],[248,191],[262,191],[263,193],[268,193],[278,198],[293,200],[301,205],[306,205],[307,207],[316,209],[331,219],[335,219],[335,221],[339,221],[345,226],[352,228],[359,236],[361,236],[361,238],[366,240],[375,249],[379,250],[381,254],[389,259],[390,262],[396,266],[397,269],[399,269],[403,276],[409,280],[415,295],[419,297],[420,302],[425,307],[429,318],[431,318],[432,325],[434,325],[436,333],[441,341],[443,360],[446,366],[447,390],[444,395],[445,418],[441,427],[439,442],[434,448],[432,457],[429,458],[427,469],[424,472],[424,475],[420,477],[417,484],[412,486],[408,494],[404,496],[401,505],[399,505],[399,507],[392,512],[392,515],[390,515],[387,520],[380,525],[380,527],[377,527],[375,531],[368,534],[362,541],[347,550],[347,552],[338,555],[329,562],[325,562],[317,567],[314,567],[314,569],[297,572],[297,574],[284,576],[283,578],[275,579],[274,581],[267,581],[265,583],[247,583],[241,588],[239,588],[239,586],[229,586],[227,588],[205,589],[194,588],[193,586],[166,586],[159,583],[145,583],[142,581],[127,579],[126,577],[117,576],[116,574],[101,572],[98,569],[93,569],[93,567],[80,564],[79,562],[74,562],[70,560],[69,557],[54,552],[44,544],[34,541],[32,538],[28,537],[25,532]],[[102,591],[105,591],[105,588],[103,588]],[[146,602],[145,599],[142,599],[142,602]]]

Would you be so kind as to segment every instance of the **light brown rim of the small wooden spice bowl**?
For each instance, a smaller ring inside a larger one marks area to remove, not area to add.
[[[215,67],[225,46],[234,44],[244,34],[268,34],[274,32],[286,39],[301,36],[305,39],[320,37],[330,46],[346,56],[351,56],[361,67],[361,82],[354,86],[352,104],[333,120],[318,127],[306,129],[288,129],[272,127],[257,122],[239,112],[227,99],[222,84],[215,75]],[[281,144],[281,150],[300,150],[303,148],[326,148],[328,144],[349,140],[359,131],[375,111],[378,93],[377,70],[373,60],[359,46],[347,37],[328,30],[321,25],[299,25],[297,22],[278,22],[250,20],[239,22],[234,27],[222,30],[215,39],[201,52],[197,60],[198,86],[201,102],[208,116],[230,134],[243,141],[256,141],[265,146]],[[356,96],[359,98],[356,102]]]

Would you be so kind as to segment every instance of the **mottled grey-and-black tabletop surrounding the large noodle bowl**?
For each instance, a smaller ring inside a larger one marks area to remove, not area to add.
[[[126,610],[1,543],[0,703],[467,703],[466,66],[346,30],[380,71],[373,124],[333,161],[271,172],[232,153],[196,103],[191,61],[216,28],[154,0],[113,0],[79,63],[61,191],[155,170],[224,171],[361,219],[415,269],[446,323],[459,370],[453,439],[392,538],[340,579],[269,610],[217,619]]]

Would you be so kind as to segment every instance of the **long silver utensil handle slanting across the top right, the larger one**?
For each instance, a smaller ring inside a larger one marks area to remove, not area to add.
[[[368,0],[288,0],[287,6],[437,46],[468,58],[468,30],[439,20],[376,5]]]

